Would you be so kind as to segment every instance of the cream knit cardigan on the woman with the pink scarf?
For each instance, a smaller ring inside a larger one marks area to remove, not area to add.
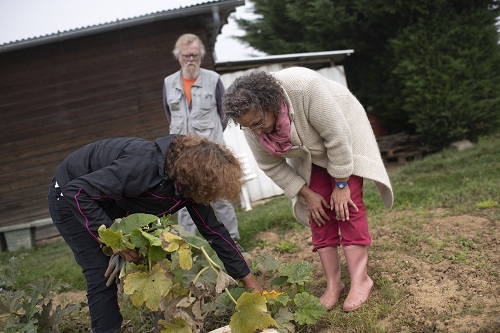
[[[257,164],[292,199],[297,220],[309,225],[307,206],[298,196],[309,185],[312,164],[336,178],[351,175],[374,180],[384,205],[394,202],[391,182],[363,106],[342,84],[313,70],[292,67],[272,73],[286,93],[292,119],[292,148],[271,156],[257,135],[245,131]]]

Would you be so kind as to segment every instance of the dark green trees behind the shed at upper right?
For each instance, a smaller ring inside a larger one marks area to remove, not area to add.
[[[240,39],[268,54],[354,49],[350,89],[390,133],[437,147],[500,124],[498,0],[252,0]]]

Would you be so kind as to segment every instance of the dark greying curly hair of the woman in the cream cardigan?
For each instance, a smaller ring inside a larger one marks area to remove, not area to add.
[[[254,71],[238,77],[229,86],[222,98],[222,110],[232,120],[251,111],[276,116],[285,100],[285,92],[272,74]]]

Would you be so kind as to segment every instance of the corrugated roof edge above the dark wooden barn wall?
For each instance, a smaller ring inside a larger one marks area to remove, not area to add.
[[[184,6],[184,7],[181,6],[163,11],[152,12],[150,14],[117,19],[115,21],[104,22],[100,24],[94,24],[64,31],[58,31],[51,34],[46,34],[21,40],[15,40],[12,42],[0,44],[0,53],[12,51],[15,49],[22,49],[31,46],[42,45],[55,41],[77,38],[85,35],[117,30],[130,26],[151,23],[154,21],[170,20],[174,18],[193,16],[197,14],[214,13],[215,12],[214,8],[222,8],[222,9],[235,8],[237,6],[241,6],[244,4],[245,0],[214,0],[214,1],[200,2],[189,6]],[[168,1],[166,2],[166,5],[168,5]]]

